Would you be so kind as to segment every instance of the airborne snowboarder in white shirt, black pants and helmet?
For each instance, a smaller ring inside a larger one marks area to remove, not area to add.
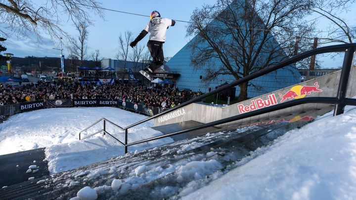
[[[147,47],[152,56],[152,62],[140,73],[147,79],[151,79],[149,73],[154,72],[157,68],[163,65],[163,43],[166,41],[166,31],[169,26],[174,26],[176,21],[168,18],[161,18],[158,11],[153,11],[150,15],[150,21],[146,27],[141,31],[137,38],[130,43],[134,48],[138,41],[142,40],[148,32],[150,33]]]

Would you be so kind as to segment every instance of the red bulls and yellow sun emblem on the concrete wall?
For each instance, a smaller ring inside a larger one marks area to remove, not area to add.
[[[278,95],[279,95],[279,98],[282,99],[280,101],[282,103],[287,100],[304,98],[306,95],[312,94],[312,92],[322,92],[322,89],[319,89],[319,85],[317,82],[314,83],[314,86],[296,85],[296,86],[293,86],[285,94],[282,95],[279,93]]]

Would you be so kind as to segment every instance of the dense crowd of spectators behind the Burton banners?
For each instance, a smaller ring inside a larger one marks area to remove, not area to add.
[[[40,81],[22,86],[1,86],[0,105],[48,99],[115,99],[152,107],[170,108],[197,95],[200,93],[179,91],[177,87],[165,87],[161,84],[97,85],[71,81]]]

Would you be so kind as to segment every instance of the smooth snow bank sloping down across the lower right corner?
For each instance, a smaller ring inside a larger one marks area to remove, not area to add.
[[[356,109],[347,109],[287,132],[183,199],[356,199]]]

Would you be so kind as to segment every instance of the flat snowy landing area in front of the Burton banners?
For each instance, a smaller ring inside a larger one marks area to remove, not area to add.
[[[108,136],[97,134],[86,140],[78,139],[81,130],[100,118],[125,127],[146,117],[110,107],[54,108],[17,114],[0,124],[0,155],[46,147],[46,160],[51,173],[124,155],[124,147]],[[162,135],[150,128],[152,126],[151,120],[129,129],[128,142]],[[87,133],[102,128],[103,123],[100,122]],[[122,130],[109,123],[106,124],[106,130],[125,141]],[[172,141],[171,138],[165,138],[143,143],[129,147],[129,151],[139,151]]]

